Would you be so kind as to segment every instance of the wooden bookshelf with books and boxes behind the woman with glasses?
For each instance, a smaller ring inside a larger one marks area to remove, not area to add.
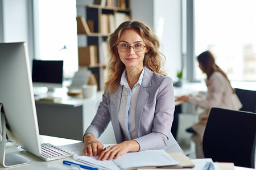
[[[119,24],[130,20],[129,5],[129,0],[94,0],[94,4],[85,6],[86,15],[76,18],[77,34],[86,35],[87,45],[79,47],[79,67],[86,66],[92,71],[98,90],[103,90],[105,83],[106,39]]]

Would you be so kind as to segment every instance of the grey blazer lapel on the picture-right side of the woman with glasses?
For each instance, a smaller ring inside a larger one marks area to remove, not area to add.
[[[152,72],[145,68],[145,72],[142,79],[142,86],[139,90],[137,105],[135,109],[135,131],[136,131],[136,137],[139,137],[139,125],[141,122],[141,114],[143,112],[144,106],[146,104],[146,101],[148,99],[148,87],[151,86],[151,78],[152,78]]]

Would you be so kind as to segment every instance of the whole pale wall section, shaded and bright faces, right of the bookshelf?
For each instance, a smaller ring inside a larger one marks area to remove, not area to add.
[[[181,1],[130,0],[131,18],[154,28],[166,57],[164,69],[176,81],[181,69]]]

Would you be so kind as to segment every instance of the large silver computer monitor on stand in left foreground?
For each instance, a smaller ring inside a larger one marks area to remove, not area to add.
[[[41,155],[30,61],[24,42],[0,43],[0,103],[0,163],[5,167],[29,163],[21,155],[5,153],[7,134],[12,142],[36,156]]]

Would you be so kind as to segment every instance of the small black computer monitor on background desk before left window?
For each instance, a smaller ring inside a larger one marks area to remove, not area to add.
[[[34,87],[47,87],[52,91],[55,87],[62,87],[62,60],[33,60],[32,82]]]

